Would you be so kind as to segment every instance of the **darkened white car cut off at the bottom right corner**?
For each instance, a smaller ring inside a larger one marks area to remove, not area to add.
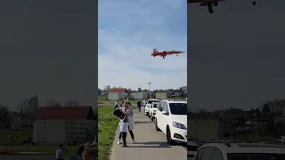
[[[285,147],[259,143],[208,143],[201,146],[194,160],[201,159],[285,159]]]

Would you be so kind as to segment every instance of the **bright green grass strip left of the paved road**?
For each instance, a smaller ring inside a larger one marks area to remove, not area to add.
[[[107,160],[118,127],[118,117],[112,115],[112,107],[98,107],[98,159]]]

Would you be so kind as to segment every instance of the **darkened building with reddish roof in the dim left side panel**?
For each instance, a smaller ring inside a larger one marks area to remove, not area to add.
[[[85,142],[97,132],[92,107],[41,107],[34,123],[36,144],[73,144]]]

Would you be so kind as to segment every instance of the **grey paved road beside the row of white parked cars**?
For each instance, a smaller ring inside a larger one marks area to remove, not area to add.
[[[110,160],[186,160],[187,150],[182,146],[169,146],[163,132],[157,132],[151,120],[143,113],[134,114],[134,139],[127,133],[126,142],[128,148],[122,148],[117,144],[118,132],[114,140]]]

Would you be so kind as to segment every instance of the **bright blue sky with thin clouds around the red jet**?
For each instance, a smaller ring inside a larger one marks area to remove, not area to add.
[[[137,89],[187,84],[187,53],[151,57],[152,49],[187,52],[184,0],[99,1],[98,86]]]

